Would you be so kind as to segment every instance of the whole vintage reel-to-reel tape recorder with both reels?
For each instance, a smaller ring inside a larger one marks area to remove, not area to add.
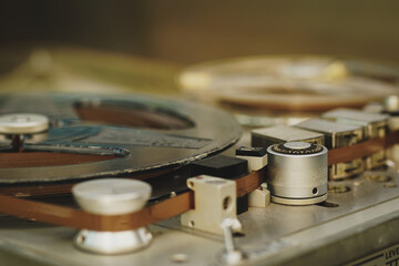
[[[287,57],[181,74],[231,114],[139,94],[3,94],[0,262],[397,265],[398,75]]]

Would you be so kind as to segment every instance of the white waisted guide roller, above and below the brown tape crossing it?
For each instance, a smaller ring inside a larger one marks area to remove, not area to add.
[[[136,180],[105,178],[80,183],[72,193],[88,213],[121,215],[142,209],[151,196],[151,186]],[[151,241],[152,234],[145,227],[123,232],[82,229],[74,244],[86,252],[120,254],[144,248]]]

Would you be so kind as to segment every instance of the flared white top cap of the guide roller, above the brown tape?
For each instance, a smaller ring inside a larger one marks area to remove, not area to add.
[[[120,215],[143,208],[151,196],[151,186],[143,181],[105,178],[79,183],[72,193],[88,213]]]

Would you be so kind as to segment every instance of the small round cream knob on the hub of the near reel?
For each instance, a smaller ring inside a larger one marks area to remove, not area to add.
[[[34,134],[49,129],[49,119],[42,114],[14,113],[0,116],[0,133]]]

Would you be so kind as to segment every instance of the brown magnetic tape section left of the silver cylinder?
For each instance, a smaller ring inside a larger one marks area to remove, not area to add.
[[[237,196],[243,196],[264,181],[264,170],[236,180]],[[117,232],[154,224],[194,208],[194,193],[186,192],[126,215],[94,215],[71,207],[0,195],[0,213],[73,228]]]

